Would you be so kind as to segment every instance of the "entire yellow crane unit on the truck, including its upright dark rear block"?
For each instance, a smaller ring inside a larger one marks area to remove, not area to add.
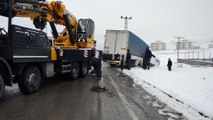
[[[7,7],[4,4],[5,2],[0,4],[0,14],[7,16]],[[55,33],[53,34],[55,45],[64,47],[72,46],[73,48],[96,46],[93,35],[93,21],[90,19],[87,22],[79,20],[80,22],[78,23],[75,16],[66,9],[62,2],[51,1],[47,3],[45,0],[14,0],[13,17],[31,18],[35,27],[39,29],[44,29],[46,22],[51,23],[52,30],[54,24],[65,26],[60,34],[57,33],[57,29],[53,31]],[[82,38],[84,38],[83,41]]]

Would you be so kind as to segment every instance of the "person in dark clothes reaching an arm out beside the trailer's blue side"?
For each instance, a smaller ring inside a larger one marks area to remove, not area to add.
[[[146,47],[146,52],[145,52],[145,56],[143,59],[143,68],[144,69],[149,70],[151,57],[155,57],[155,56],[152,54],[152,52],[149,50],[149,48]]]

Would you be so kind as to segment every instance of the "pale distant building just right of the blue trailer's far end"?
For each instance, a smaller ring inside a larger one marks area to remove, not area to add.
[[[156,41],[151,43],[151,50],[152,51],[162,51],[166,49],[166,43],[162,42],[162,41]]]

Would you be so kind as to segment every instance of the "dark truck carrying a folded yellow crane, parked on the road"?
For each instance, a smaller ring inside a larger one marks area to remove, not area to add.
[[[96,41],[91,19],[77,20],[62,2],[45,0],[1,0],[0,15],[8,18],[8,30],[0,26],[0,99],[5,86],[13,83],[31,94],[44,78],[85,77],[94,58],[99,61],[97,77],[101,77],[102,51],[92,49]],[[30,18],[37,29],[13,24],[14,17]],[[46,23],[53,40],[42,31]],[[59,33],[56,24],[65,26],[63,31]]]

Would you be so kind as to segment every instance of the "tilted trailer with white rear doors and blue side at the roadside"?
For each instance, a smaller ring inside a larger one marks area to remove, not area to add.
[[[116,59],[117,54],[124,55],[126,58],[127,50],[132,54],[132,63],[137,65],[144,57],[148,45],[131,31],[126,30],[106,30],[103,57],[109,64],[119,64]],[[106,56],[108,58],[106,58]]]

